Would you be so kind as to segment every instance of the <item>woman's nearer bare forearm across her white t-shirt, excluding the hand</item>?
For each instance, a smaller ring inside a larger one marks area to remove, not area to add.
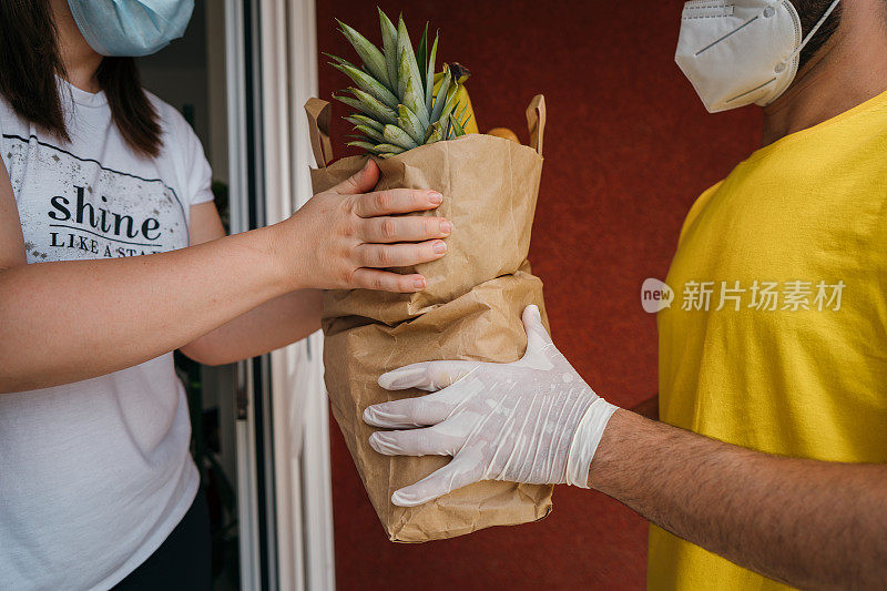
[[[0,272],[0,393],[146,361],[295,286],[274,227],[170,253]]]

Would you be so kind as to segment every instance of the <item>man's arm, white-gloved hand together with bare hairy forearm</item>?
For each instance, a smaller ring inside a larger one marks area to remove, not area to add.
[[[769,456],[616,409],[558,353],[534,306],[523,324],[527,354],[513,364],[429,361],[379,377],[389,389],[435,394],[368,407],[370,425],[425,427],[377,431],[373,448],[453,457],[396,491],[395,505],[420,505],[478,480],[593,483],[672,533],[777,581],[885,588],[887,465]]]

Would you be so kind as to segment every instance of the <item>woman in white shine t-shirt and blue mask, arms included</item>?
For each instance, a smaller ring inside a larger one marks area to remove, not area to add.
[[[284,346],[319,327],[319,289],[420,291],[381,268],[446,251],[445,220],[391,217],[442,197],[371,193],[373,163],[224,237],[197,139],[132,60],[192,9],[0,2],[0,589],[206,588],[171,351],[223,364]]]

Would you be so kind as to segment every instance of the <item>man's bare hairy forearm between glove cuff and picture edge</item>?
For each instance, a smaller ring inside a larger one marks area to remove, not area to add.
[[[887,466],[782,458],[619,410],[591,486],[660,527],[803,588],[887,584]]]

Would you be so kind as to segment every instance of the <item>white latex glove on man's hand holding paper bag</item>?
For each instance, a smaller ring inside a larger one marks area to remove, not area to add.
[[[539,308],[523,310],[527,353],[511,364],[426,361],[379,377],[389,390],[434,394],[367,407],[369,445],[388,456],[452,456],[391,496],[414,507],[479,480],[588,488],[589,466],[616,410],[577,374],[548,336]],[[416,428],[425,427],[425,428]]]

